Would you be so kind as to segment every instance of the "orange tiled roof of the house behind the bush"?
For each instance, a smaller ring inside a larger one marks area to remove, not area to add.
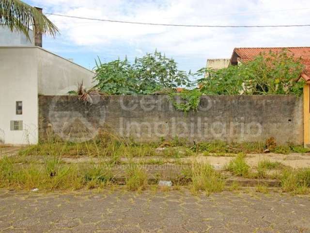
[[[250,61],[253,60],[254,57],[269,51],[272,52],[280,52],[282,50],[286,50],[288,54],[293,55],[296,59],[301,58],[301,63],[305,66],[302,77],[305,79],[305,75],[310,77],[310,47],[279,47],[279,48],[235,48],[233,50],[233,55],[231,58],[231,64],[236,64],[238,60],[241,61]],[[310,81],[306,80],[306,81]]]

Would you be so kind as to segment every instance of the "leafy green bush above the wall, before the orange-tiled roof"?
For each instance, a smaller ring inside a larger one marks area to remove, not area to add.
[[[296,82],[304,66],[286,50],[262,53],[239,66],[213,70],[202,68],[196,75],[201,91],[208,95],[302,94],[303,82]]]

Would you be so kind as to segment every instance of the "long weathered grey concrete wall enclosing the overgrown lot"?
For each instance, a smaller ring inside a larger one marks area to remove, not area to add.
[[[83,141],[100,129],[137,141],[177,135],[188,140],[303,143],[302,98],[294,96],[203,96],[198,112],[175,110],[167,96],[39,97],[39,134],[50,128],[63,139]]]

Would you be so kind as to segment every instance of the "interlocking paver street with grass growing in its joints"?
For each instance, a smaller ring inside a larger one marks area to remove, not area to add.
[[[2,233],[309,233],[309,196],[0,190]]]

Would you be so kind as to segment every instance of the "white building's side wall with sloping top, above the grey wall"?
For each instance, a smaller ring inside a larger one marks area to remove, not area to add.
[[[82,81],[86,88],[94,85],[92,71],[47,50],[38,48],[37,56],[39,94],[66,95]]]

